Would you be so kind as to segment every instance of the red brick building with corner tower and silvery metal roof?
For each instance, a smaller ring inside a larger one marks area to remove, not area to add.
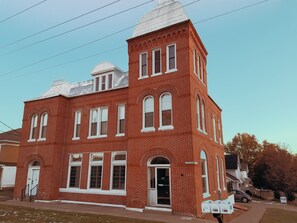
[[[25,102],[15,198],[201,215],[227,197],[221,109],[207,51],[182,5],[160,0],[127,40],[129,71],[55,82]]]

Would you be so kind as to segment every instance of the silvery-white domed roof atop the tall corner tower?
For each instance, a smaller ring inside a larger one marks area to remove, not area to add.
[[[132,37],[141,36],[188,19],[181,3],[175,0],[158,0],[157,7],[142,17]]]

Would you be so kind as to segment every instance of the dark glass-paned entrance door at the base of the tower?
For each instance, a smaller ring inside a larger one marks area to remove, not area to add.
[[[170,173],[168,167],[157,167],[157,204],[170,205]]]

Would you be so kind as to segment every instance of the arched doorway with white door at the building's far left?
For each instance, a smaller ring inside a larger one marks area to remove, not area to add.
[[[28,166],[27,186],[28,194],[34,196],[38,191],[40,162],[32,161]]]

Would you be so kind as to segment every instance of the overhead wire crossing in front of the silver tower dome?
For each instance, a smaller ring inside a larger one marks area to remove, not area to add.
[[[172,10],[172,11],[179,10],[180,8],[187,7],[187,6],[192,5],[192,4],[194,4],[194,3],[196,3],[196,2],[199,2],[199,1],[200,1],[200,0],[192,1],[192,2],[190,2],[190,3],[188,3],[188,4],[184,5],[184,6],[178,7],[178,8],[176,8],[176,9]],[[78,50],[78,49],[83,48],[83,47],[85,47],[85,46],[91,45],[91,44],[93,44],[93,43],[99,42],[99,41],[104,40],[104,39],[107,39],[107,38],[109,38],[109,37],[111,37],[111,36],[117,35],[117,34],[119,34],[119,33],[122,33],[122,32],[124,32],[124,31],[127,31],[127,30],[129,30],[129,29],[132,29],[132,28],[134,28],[135,26],[137,26],[137,25],[139,25],[139,24],[147,23],[147,22],[149,22],[149,21],[151,21],[151,20],[153,20],[153,19],[159,18],[159,17],[164,16],[164,15],[166,15],[166,14],[167,14],[167,12],[165,12],[165,13],[159,15],[159,16],[156,16],[156,17],[154,17],[154,18],[152,18],[152,19],[150,19],[150,20],[146,20],[146,21],[144,21],[144,22],[142,22],[142,23],[138,23],[138,24],[136,24],[136,25],[132,25],[132,26],[126,27],[126,28],[124,28],[124,29],[118,30],[118,31],[116,31],[116,32],[113,32],[113,33],[108,34],[108,35],[106,35],[106,36],[103,36],[103,37],[101,37],[101,38],[95,39],[95,40],[93,40],[93,41],[84,43],[84,44],[79,45],[79,46],[77,46],[77,47],[74,47],[74,48],[72,48],[72,49],[63,51],[63,52],[61,52],[61,53],[52,55],[52,56],[50,56],[50,57],[46,57],[46,58],[44,58],[44,59],[42,59],[42,60],[39,60],[39,61],[35,61],[35,62],[31,63],[31,64],[27,64],[27,65],[25,65],[25,66],[19,67],[19,68],[15,69],[15,70],[6,72],[6,73],[4,73],[4,74],[1,74],[0,76],[4,76],[4,75],[7,75],[7,74],[15,73],[15,72],[20,71],[20,70],[23,70],[23,69],[25,69],[25,68],[32,67],[32,66],[34,66],[34,65],[36,65],[36,64],[40,64],[40,63],[42,63],[42,62],[44,62],[44,61],[47,61],[47,60],[56,58],[56,57],[58,57],[58,56],[64,55],[64,54],[66,54],[66,53],[69,53],[69,52]]]

